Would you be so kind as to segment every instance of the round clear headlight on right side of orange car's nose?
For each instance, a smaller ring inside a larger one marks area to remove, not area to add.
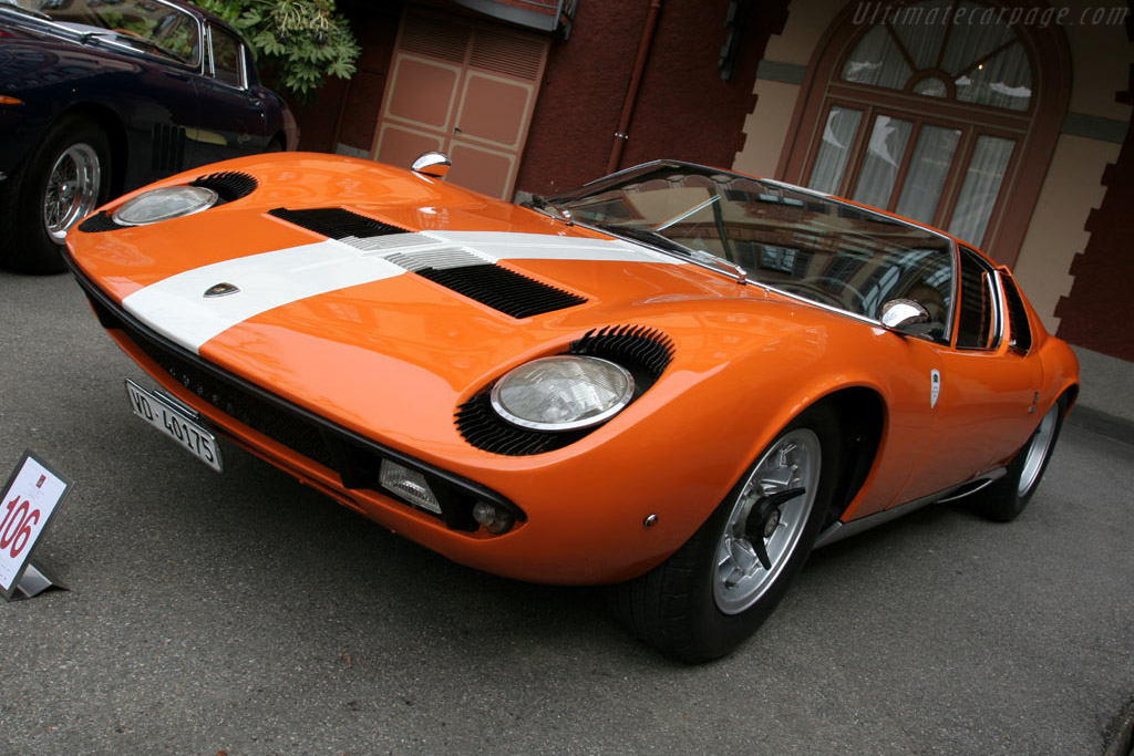
[[[604,423],[634,398],[634,377],[606,359],[560,355],[533,359],[492,387],[492,408],[514,425],[576,431]]]

